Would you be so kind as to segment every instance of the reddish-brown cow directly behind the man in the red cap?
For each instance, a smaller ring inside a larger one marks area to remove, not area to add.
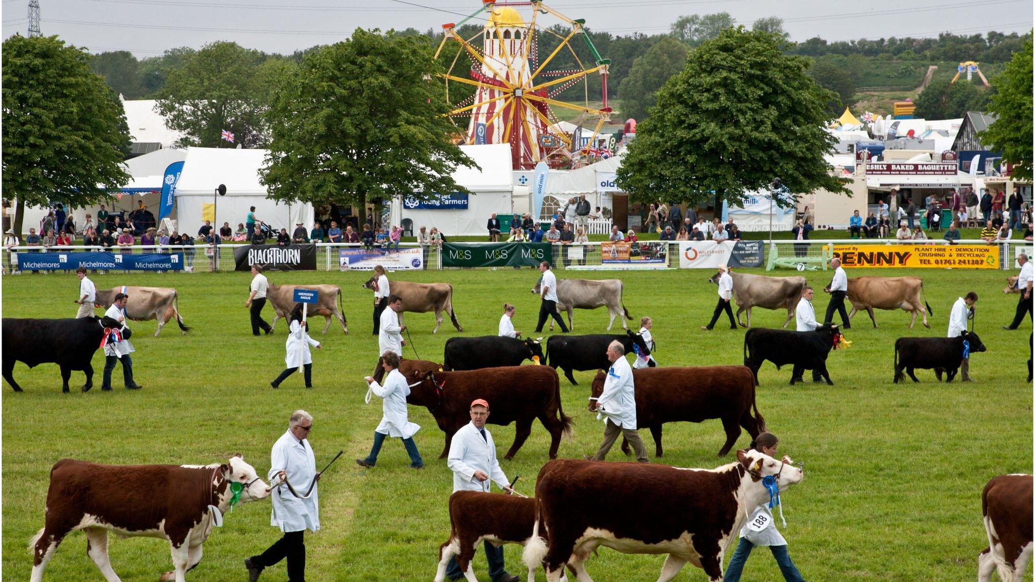
[[[514,442],[503,457],[513,459],[532,434],[532,420],[538,418],[550,431],[550,458],[557,458],[561,436],[571,437],[571,418],[561,408],[561,382],[557,372],[546,366],[510,366],[464,372],[411,372],[406,376],[410,396],[406,401],[423,406],[446,434],[440,459],[449,454],[453,434],[471,421],[469,409],[475,399],[489,401],[489,423],[515,424]]]

